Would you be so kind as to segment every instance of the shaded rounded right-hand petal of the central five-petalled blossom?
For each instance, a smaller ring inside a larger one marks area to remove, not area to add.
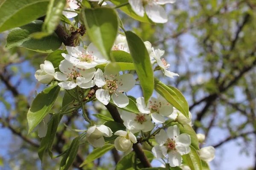
[[[135,82],[132,74],[122,74],[119,76],[118,90],[127,92],[134,87]]]

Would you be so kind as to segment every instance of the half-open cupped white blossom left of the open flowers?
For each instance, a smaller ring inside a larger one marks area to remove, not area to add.
[[[42,84],[49,84],[54,78],[55,69],[52,62],[45,60],[40,69],[35,72],[35,78]]]

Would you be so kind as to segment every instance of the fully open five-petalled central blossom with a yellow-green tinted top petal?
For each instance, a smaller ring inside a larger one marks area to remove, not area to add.
[[[100,87],[96,91],[96,98],[104,105],[108,105],[110,98],[119,108],[129,104],[129,99],[123,92],[131,90],[135,85],[132,74],[119,74],[120,66],[115,63],[108,63],[103,74],[102,70],[96,71],[94,81]]]

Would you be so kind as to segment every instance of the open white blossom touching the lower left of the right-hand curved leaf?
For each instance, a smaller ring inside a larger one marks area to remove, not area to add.
[[[151,113],[151,118],[155,123],[164,123],[164,116],[170,116],[173,112],[173,106],[166,99],[157,94],[157,98],[151,97],[148,105],[145,105],[144,97],[136,99],[137,107],[141,113]]]

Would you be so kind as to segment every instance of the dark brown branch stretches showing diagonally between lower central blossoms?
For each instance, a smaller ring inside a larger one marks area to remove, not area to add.
[[[123,124],[123,120],[115,106],[108,104],[106,105],[106,108],[108,109],[109,113],[111,114],[115,122]],[[143,164],[143,167],[151,167],[151,164],[148,158],[146,157],[145,153],[143,152],[142,148],[140,147],[140,144],[133,144],[133,149],[137,155],[137,158],[139,158],[141,163]]]

